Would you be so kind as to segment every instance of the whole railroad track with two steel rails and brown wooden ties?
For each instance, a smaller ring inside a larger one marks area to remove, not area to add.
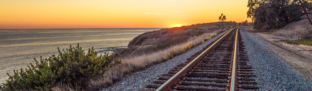
[[[247,91],[258,89],[239,28],[228,31],[163,74],[143,91]]]

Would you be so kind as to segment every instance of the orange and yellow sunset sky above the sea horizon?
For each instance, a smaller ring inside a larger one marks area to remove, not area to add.
[[[0,0],[0,29],[150,28],[242,22],[248,0]]]

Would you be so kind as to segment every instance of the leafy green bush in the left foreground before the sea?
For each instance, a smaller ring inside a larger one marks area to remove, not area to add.
[[[59,55],[52,55],[40,62],[35,58],[36,65],[27,65],[28,69],[14,70],[9,75],[7,83],[0,86],[0,90],[17,89],[51,89],[58,83],[78,84],[81,88],[88,85],[90,79],[102,77],[110,66],[120,64],[115,57],[106,55],[97,56],[97,52],[89,49],[87,53],[79,46],[71,47],[63,52],[58,49]]]

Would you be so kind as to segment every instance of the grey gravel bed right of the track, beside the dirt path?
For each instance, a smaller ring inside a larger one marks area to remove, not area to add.
[[[255,79],[259,91],[312,91],[312,84],[296,71],[297,67],[292,67],[288,61],[275,55],[278,51],[274,50],[275,47],[248,32],[248,29],[241,28],[241,36],[250,59],[247,64],[253,66],[253,72],[257,75]]]

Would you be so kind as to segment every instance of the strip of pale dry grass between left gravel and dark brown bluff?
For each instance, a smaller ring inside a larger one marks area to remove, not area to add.
[[[105,87],[113,83],[115,79],[122,78],[123,74],[143,69],[146,66],[169,60],[174,56],[180,55],[191,47],[202,44],[205,40],[216,36],[215,33],[205,33],[201,36],[190,38],[188,42],[171,46],[168,49],[160,50],[151,54],[135,55],[122,59],[122,64],[109,68],[105,73],[105,78],[90,81],[90,87]]]

